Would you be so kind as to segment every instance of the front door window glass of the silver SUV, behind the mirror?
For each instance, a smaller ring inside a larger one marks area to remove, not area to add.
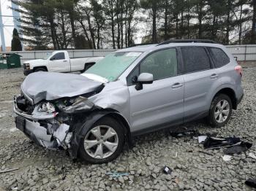
[[[176,76],[176,49],[159,50],[148,55],[148,57],[140,63],[140,74],[141,73],[153,74],[154,80]]]

